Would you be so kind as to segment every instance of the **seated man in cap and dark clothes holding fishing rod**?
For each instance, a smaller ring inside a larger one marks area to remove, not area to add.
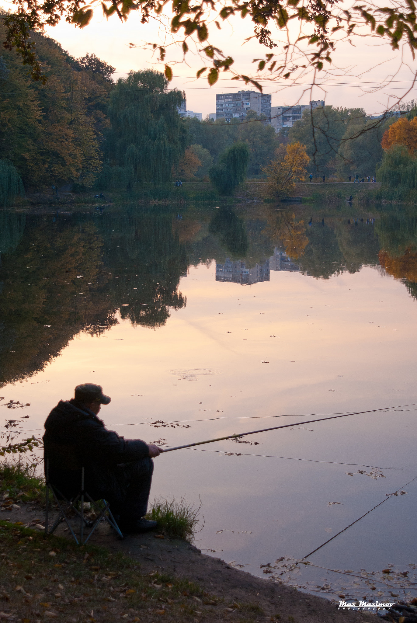
[[[146,520],[156,445],[125,439],[107,430],[97,415],[105,396],[100,385],[77,385],[75,397],[60,400],[45,422],[44,447],[49,480],[65,497],[80,490],[85,468],[85,491],[93,500],[105,499],[122,532],[147,532],[156,521]]]

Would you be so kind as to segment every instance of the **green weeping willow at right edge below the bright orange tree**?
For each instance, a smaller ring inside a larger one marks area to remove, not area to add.
[[[405,145],[392,145],[382,156],[376,170],[376,179],[384,190],[396,188],[399,192],[417,189],[417,158]]]

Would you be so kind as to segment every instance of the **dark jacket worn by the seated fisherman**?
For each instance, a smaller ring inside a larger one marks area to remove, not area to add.
[[[107,430],[95,413],[74,399],[60,400],[52,409],[43,439],[49,480],[65,497],[80,489],[81,467],[85,490],[100,499],[117,484],[112,468],[149,456],[145,442]]]

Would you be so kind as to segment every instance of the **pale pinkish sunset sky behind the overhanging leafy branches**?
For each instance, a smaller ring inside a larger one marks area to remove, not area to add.
[[[13,4],[0,0],[0,6],[12,9]],[[344,3],[343,9],[347,7],[347,3]],[[234,17],[230,22],[223,22],[221,31],[218,31],[214,24],[212,26],[210,41],[218,45],[226,55],[234,57],[234,69],[245,74],[255,74],[256,64],[253,64],[252,60],[261,58],[269,50],[264,49],[256,39],[242,45],[244,39],[253,34],[250,19],[242,20],[241,17]],[[295,29],[297,22],[291,22],[291,27]],[[368,34],[370,31],[363,28],[361,32]],[[84,29],[75,28],[62,21],[58,26],[47,27],[46,34],[56,39],[75,57],[82,57],[90,52],[116,67],[115,80],[125,76],[130,70],[151,67],[162,71],[164,69],[164,64],[158,62],[156,54],[152,57],[146,50],[130,49],[128,45],[130,42],[135,45],[163,42],[165,34],[156,21],[141,24],[140,14],[134,11],[128,21],[122,23],[116,16],[107,21],[103,17],[102,9],[98,7],[89,26]],[[273,30],[272,35],[274,36]],[[314,47],[310,46],[310,49],[313,51]],[[171,62],[175,58],[181,60],[181,57],[179,47],[176,50],[173,47],[168,48],[167,59],[174,72],[171,87],[185,90],[188,110],[203,113],[203,118],[208,113],[215,112],[216,93],[255,88],[251,85],[246,86],[243,82],[231,82],[227,78],[228,75],[232,77],[231,74],[223,72],[216,85],[209,87],[205,77],[199,80],[195,78],[196,71],[206,64],[204,59],[191,50],[186,56],[188,64],[175,65]],[[411,59],[406,47],[395,52],[379,37],[352,37],[352,44],[340,42],[337,45],[332,59],[337,68],[333,70],[334,77],[330,79],[324,72],[322,75],[319,74],[316,78],[317,85],[312,92],[310,92],[312,74],[305,76],[297,85],[284,80],[277,82],[261,80],[264,93],[272,94],[272,106],[305,104],[311,99],[324,99],[327,104],[333,106],[362,107],[368,114],[379,114],[395,104],[398,98],[405,96],[405,101],[408,101],[416,97],[417,85],[406,94],[412,86],[416,70],[415,61]],[[392,82],[388,86],[390,79]]]

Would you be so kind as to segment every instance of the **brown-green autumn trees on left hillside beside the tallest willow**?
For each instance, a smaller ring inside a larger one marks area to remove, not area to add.
[[[48,80],[32,82],[16,53],[2,51],[0,158],[11,161],[26,190],[66,181],[90,186],[100,171],[114,68],[94,55],[74,59],[49,37],[32,37]]]

